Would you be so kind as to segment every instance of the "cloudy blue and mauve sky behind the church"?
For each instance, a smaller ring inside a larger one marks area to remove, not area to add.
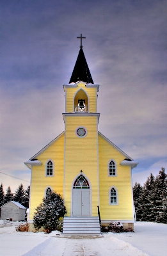
[[[64,130],[62,85],[70,80],[81,33],[91,76],[100,84],[99,131],[139,162],[134,182],[167,168],[166,0],[0,4],[4,190],[20,183],[26,189],[30,172],[23,162]]]

